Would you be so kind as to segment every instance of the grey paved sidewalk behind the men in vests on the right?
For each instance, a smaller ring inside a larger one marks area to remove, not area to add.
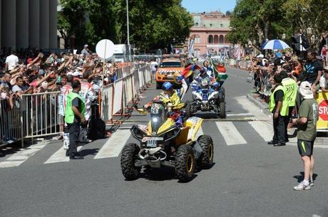
[[[250,102],[254,103],[257,107],[259,107],[262,113],[272,117],[272,113],[270,113],[269,111],[269,105],[267,104],[267,102],[265,102],[265,100],[262,100],[260,98],[260,95],[251,92],[248,93],[246,97],[248,100],[250,100]],[[288,129],[289,134],[294,134],[294,131],[295,131],[294,127]],[[315,143],[320,145],[327,145],[328,147],[328,133],[318,132]]]

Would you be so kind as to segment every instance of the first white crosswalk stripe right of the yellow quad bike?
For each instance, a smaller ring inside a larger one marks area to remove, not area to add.
[[[247,144],[232,122],[215,122],[227,145]]]

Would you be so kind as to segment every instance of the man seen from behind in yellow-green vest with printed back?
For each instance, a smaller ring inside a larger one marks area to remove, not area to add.
[[[282,86],[286,88],[286,98],[288,100],[288,115],[285,118],[285,142],[289,142],[287,135],[287,127],[290,117],[292,117],[292,110],[294,110],[296,97],[297,97],[297,83],[294,79],[289,78],[287,71],[282,70]]]

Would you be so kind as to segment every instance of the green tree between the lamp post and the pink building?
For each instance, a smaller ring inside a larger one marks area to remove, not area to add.
[[[121,1],[118,16],[124,22],[121,29],[126,29],[125,0]],[[142,50],[165,48],[173,40],[182,43],[189,36],[193,18],[181,6],[180,0],[130,0],[130,43]],[[126,32],[121,38],[127,38]]]

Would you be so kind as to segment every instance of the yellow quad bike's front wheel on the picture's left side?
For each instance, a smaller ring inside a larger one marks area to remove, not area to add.
[[[121,169],[126,180],[138,179],[140,167],[135,166],[140,148],[135,143],[126,144],[122,150]]]

